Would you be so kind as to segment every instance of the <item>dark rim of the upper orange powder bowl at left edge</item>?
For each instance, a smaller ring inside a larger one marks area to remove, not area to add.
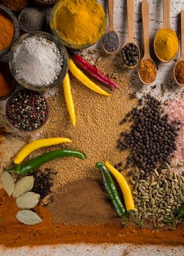
[[[15,15],[12,13],[11,10],[9,10],[7,7],[5,7],[3,4],[0,4],[0,10],[4,11],[7,13],[7,15],[9,15],[9,17],[12,19],[13,23],[14,23],[14,26],[15,26],[15,34],[14,34],[14,37],[12,39],[12,42],[11,44],[5,48],[4,50],[0,50],[0,57],[3,56],[4,54],[8,53],[10,48],[12,48],[12,45],[13,45],[13,42],[15,42],[16,39],[18,39],[18,36],[19,36],[19,24],[18,24],[18,20],[17,18],[15,17]]]

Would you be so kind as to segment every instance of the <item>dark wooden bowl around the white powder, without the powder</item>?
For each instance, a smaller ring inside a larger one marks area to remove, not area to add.
[[[55,42],[55,45],[57,45],[58,49],[60,50],[60,52],[63,56],[64,64],[63,64],[63,68],[61,70],[61,74],[58,76],[58,78],[53,83],[50,83],[50,85],[48,85],[48,86],[35,86],[33,84],[26,83],[25,80],[18,78],[18,74],[15,69],[15,50],[23,42],[23,40],[27,39],[28,37],[44,37],[52,42]],[[60,85],[62,80],[64,80],[64,77],[69,69],[69,56],[66,51],[66,48],[64,47],[64,45],[61,44],[61,42],[58,40],[57,37],[54,37],[52,34],[48,34],[46,32],[33,31],[33,32],[29,32],[27,34],[23,34],[23,36],[19,37],[19,39],[12,46],[12,49],[11,49],[11,52],[9,55],[9,68],[12,72],[13,77],[20,84],[20,86],[23,86],[26,89],[35,90],[35,91],[46,91],[47,89],[51,89],[55,86]]]

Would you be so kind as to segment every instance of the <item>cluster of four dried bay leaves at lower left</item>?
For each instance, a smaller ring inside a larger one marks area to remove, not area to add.
[[[34,187],[33,176],[25,176],[16,181],[10,173],[2,172],[1,182],[7,195],[15,197],[18,208],[22,209],[16,215],[20,222],[26,225],[42,222],[42,219],[34,211],[28,210],[37,206],[40,197],[39,194],[30,192]]]

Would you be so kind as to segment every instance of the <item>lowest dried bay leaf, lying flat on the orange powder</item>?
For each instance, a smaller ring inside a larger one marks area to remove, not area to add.
[[[18,211],[16,218],[26,225],[34,225],[39,222],[42,222],[42,219],[40,219],[40,217],[37,214],[35,214],[34,211],[29,210]]]

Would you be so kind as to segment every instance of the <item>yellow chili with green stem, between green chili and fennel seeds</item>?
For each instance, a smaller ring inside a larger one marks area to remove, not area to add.
[[[110,173],[112,173],[112,175],[115,177],[115,179],[118,181],[118,184],[120,186],[120,189],[123,193],[123,199],[124,199],[124,203],[126,206],[126,211],[129,212],[129,214],[131,215],[132,219],[134,220],[134,222],[137,225],[142,225],[141,222],[137,222],[135,217],[134,217],[134,199],[131,195],[131,189],[129,187],[129,184],[126,182],[126,179],[123,177],[123,175],[121,173],[118,172],[118,170],[115,169],[115,167],[113,167],[112,165],[110,165],[109,162],[105,162],[105,165],[107,167],[107,169],[110,171]]]

